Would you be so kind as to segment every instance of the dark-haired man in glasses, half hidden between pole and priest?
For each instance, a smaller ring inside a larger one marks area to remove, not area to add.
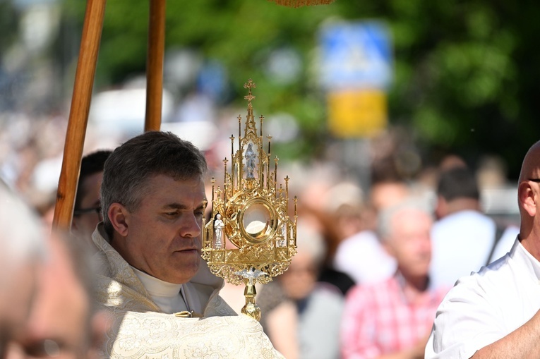
[[[102,221],[100,187],[103,181],[103,166],[112,151],[100,150],[87,154],[80,161],[80,175],[75,197],[75,209],[71,221],[71,232],[85,241],[90,248],[92,232]]]

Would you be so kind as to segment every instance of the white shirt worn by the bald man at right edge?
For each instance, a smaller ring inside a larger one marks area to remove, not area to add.
[[[470,358],[539,309],[540,262],[516,240],[507,255],[450,290],[437,310],[425,358]]]

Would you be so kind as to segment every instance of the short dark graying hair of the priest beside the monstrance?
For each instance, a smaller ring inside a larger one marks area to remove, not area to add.
[[[107,217],[112,203],[135,211],[148,195],[148,179],[153,176],[161,174],[185,181],[203,178],[207,170],[203,152],[170,132],[149,131],[124,142],[104,166],[101,202],[105,231],[112,235],[113,227]]]

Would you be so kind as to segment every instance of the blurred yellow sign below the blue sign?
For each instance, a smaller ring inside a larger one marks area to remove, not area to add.
[[[337,138],[363,138],[386,127],[386,94],[380,90],[344,90],[328,94],[328,126]]]

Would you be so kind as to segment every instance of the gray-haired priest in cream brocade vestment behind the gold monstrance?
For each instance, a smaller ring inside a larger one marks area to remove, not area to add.
[[[110,358],[283,358],[262,327],[219,296],[200,257],[204,155],[150,131],[109,156],[101,188],[97,297],[112,321]]]

